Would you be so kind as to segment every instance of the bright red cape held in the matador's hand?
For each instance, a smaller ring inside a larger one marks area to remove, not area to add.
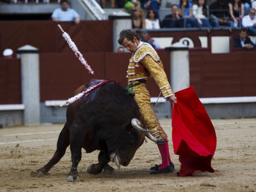
[[[195,171],[214,172],[211,160],[216,149],[216,134],[212,122],[198,99],[194,87],[175,93],[177,103],[172,108],[172,142],[181,163],[179,176]]]

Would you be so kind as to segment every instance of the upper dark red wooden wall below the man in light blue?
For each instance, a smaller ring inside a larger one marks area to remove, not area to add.
[[[72,52],[61,35],[57,24],[61,25],[77,45],[80,52],[112,52],[112,21],[0,21],[0,52],[30,44],[41,52]]]

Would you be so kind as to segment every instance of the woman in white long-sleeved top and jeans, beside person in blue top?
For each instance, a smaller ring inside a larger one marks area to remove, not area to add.
[[[205,5],[204,0],[198,0],[197,4],[194,4],[192,6],[192,13],[194,18],[197,20],[201,27],[212,27],[212,25],[207,19],[207,7]]]

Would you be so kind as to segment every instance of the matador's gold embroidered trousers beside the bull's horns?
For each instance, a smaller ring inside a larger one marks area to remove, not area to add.
[[[132,82],[132,84],[136,84],[136,83],[138,83],[138,81]],[[153,137],[157,139],[166,140],[167,134],[164,132],[163,128],[160,126],[158,119],[156,117],[156,114],[151,108],[150,95],[145,85],[146,84],[141,83],[133,87],[132,93],[135,94],[134,99],[140,108],[140,114],[148,130],[152,131],[150,133],[153,135]],[[131,92],[131,88],[129,89],[129,91]]]

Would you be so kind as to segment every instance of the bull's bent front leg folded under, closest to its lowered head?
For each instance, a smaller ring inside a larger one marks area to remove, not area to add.
[[[91,164],[87,168],[87,171],[86,171],[87,173],[98,175],[99,173],[102,172],[103,168],[109,169],[109,172],[114,169],[113,167],[110,167],[108,165],[108,162],[110,161],[110,158],[109,158],[109,154],[107,152],[101,150],[100,153],[99,153],[99,156],[98,156],[98,160],[99,160],[99,163]]]

